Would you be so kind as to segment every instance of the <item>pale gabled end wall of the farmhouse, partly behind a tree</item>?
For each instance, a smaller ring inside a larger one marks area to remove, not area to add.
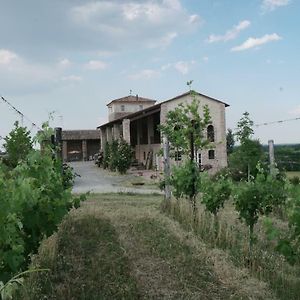
[[[209,159],[209,149],[202,150],[201,165],[211,165],[211,172],[216,172],[227,166],[227,149],[226,149],[226,123],[225,123],[225,104],[211,100],[204,96],[196,95],[196,99],[200,100],[199,114],[203,116],[203,106],[207,105],[210,111],[212,125],[214,126],[214,159]],[[160,121],[166,120],[168,111],[174,110],[180,103],[191,103],[191,95],[186,95],[179,99],[162,103]],[[175,164],[175,161],[171,161]]]

